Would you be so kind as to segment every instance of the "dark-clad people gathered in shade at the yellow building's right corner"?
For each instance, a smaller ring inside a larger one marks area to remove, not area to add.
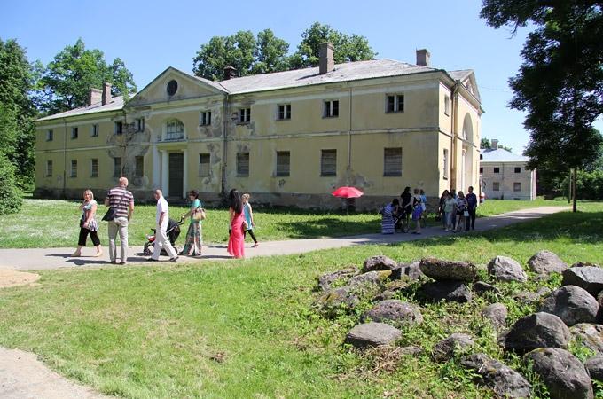
[[[474,188],[469,187],[468,193],[444,190],[440,197],[436,217],[442,219],[446,231],[463,231],[475,229],[475,211],[477,196]],[[415,223],[412,234],[421,233],[421,223],[427,220],[427,197],[423,189],[404,188],[400,198],[395,198],[380,209],[381,233],[393,234],[396,229],[406,232],[409,230],[410,219]]]

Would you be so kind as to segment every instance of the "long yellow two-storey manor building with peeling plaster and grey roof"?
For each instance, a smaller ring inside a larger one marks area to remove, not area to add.
[[[392,59],[320,65],[211,82],[168,67],[129,101],[110,85],[90,106],[36,122],[36,196],[99,198],[128,176],[137,200],[161,188],[205,203],[231,188],[255,203],[341,207],[341,185],[364,192],[356,207],[382,206],[403,187],[429,200],[479,187],[482,106],[472,70]]]

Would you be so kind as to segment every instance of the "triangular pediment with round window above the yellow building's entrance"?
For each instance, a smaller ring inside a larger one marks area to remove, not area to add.
[[[176,83],[174,83],[176,82]],[[149,106],[190,98],[227,94],[216,82],[185,74],[170,66],[130,98],[127,107]]]

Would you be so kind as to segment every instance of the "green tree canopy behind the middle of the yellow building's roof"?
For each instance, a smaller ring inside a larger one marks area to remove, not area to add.
[[[239,76],[317,66],[319,45],[324,42],[333,43],[335,63],[373,59],[376,56],[364,36],[343,34],[329,25],[315,22],[302,33],[302,43],[290,56],[287,55],[289,43],[278,38],[270,29],[262,30],[257,36],[250,31],[214,36],[209,43],[201,44],[192,59],[192,71],[197,76],[221,81],[225,66],[233,66]]]

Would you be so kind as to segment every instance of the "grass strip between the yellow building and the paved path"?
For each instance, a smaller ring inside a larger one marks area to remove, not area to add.
[[[487,200],[478,209],[478,216],[496,215],[522,207],[565,205],[563,201]],[[19,214],[0,215],[0,248],[34,248],[75,246],[79,233],[79,202],[65,200],[24,200]],[[170,207],[172,218],[187,211]],[[98,220],[106,207],[99,205]],[[255,234],[260,241],[278,239],[311,239],[336,237],[380,231],[380,215],[376,213],[341,214],[283,208],[255,209]],[[208,243],[228,241],[228,211],[208,209],[203,222],[203,239]],[[188,223],[188,222],[187,222]],[[432,219],[430,224],[436,224]],[[155,224],[155,207],[138,205],[129,225],[129,245],[142,246],[145,234]],[[183,226],[183,238],[188,224]],[[106,245],[106,223],[100,222],[101,243]],[[183,238],[179,242],[183,242]],[[90,245],[90,244],[89,244]]]

